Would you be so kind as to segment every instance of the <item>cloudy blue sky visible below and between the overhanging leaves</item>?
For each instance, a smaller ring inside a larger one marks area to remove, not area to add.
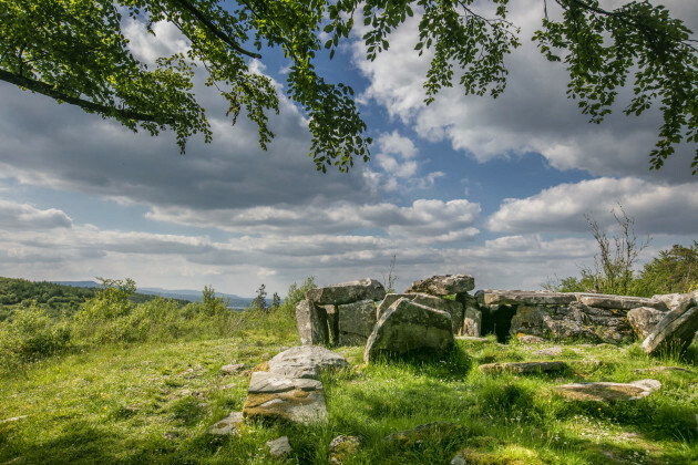
[[[695,31],[692,3],[664,2]],[[606,122],[589,124],[566,99],[564,66],[530,40],[542,13],[540,0],[512,2],[523,46],[506,58],[507,87],[496,100],[455,87],[424,105],[418,18],[373,62],[356,37],[332,61],[321,59],[328,79],[353,86],[374,140],[371,161],[348,174],[316,172],[307,121],[284,96],[288,63],[274,51],[253,63],[280,95],[267,152],[253,123],[240,115],[232,126],[202,76],[195,92],[214,140],[191,140],[185,155],[173,133],[134,134],[0,82],[0,276],[129,277],[138,287],[211,285],[244,297],[265,283],[284,297],[310,276],[320,286],[384,282],[394,257],[398,291],[443,273],[471,275],[476,289],[540,289],[593,265],[585,215],[613,234],[618,204],[635,218],[638,241],[650,239],[638,266],[692,244],[695,145],[650,172],[660,115],[625,116],[628,90]],[[145,62],[187,46],[167,23],[155,32],[126,24]]]

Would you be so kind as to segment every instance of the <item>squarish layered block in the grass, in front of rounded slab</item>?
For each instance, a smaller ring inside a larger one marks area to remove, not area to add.
[[[304,424],[327,422],[322,384],[317,380],[255,372],[249,382],[243,414],[252,418],[286,420]]]

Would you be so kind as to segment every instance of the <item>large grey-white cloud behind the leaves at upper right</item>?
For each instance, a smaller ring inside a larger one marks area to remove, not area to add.
[[[689,27],[698,25],[698,10],[684,3],[670,1],[668,7]],[[640,117],[623,115],[620,111],[629,102],[629,91],[624,90],[605,123],[588,124],[576,103],[566,99],[568,78],[564,65],[547,62],[530,40],[541,27],[541,2],[514,2],[511,10],[510,19],[521,27],[523,45],[506,58],[507,89],[499,99],[464,96],[454,87],[443,90],[431,105],[423,104],[422,83],[431,54],[420,58],[414,50],[419,24],[415,14],[390,35],[390,49],[372,62],[365,59],[361,41],[355,43],[353,61],[370,81],[363,101],[382,105],[421,137],[449,141],[454,149],[482,163],[541,153],[557,169],[648,176],[648,154],[661,124],[658,112]],[[688,180],[692,156],[694,149],[684,144],[651,176]]]

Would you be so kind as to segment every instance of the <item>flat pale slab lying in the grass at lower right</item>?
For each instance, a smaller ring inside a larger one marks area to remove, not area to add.
[[[632,383],[571,383],[555,390],[571,401],[636,401],[661,389],[657,380],[640,380]]]

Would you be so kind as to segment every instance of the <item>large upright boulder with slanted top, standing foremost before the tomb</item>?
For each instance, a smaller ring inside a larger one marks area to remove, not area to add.
[[[451,316],[401,298],[386,311],[369,337],[363,361],[380,352],[403,354],[419,349],[443,352],[453,347]]]

